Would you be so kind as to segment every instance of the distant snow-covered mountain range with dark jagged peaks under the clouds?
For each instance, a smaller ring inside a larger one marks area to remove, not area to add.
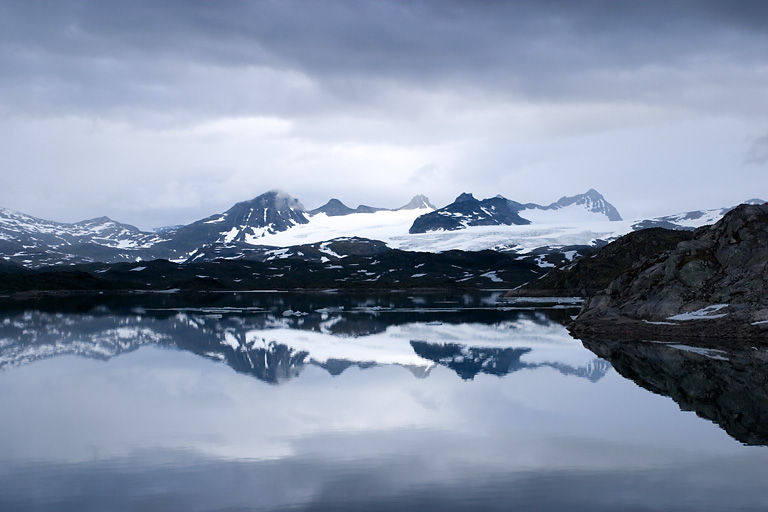
[[[594,189],[546,206],[463,193],[439,209],[418,195],[396,209],[350,208],[331,199],[307,210],[298,199],[272,190],[188,225],[145,232],[107,217],[65,224],[0,208],[0,262],[45,268],[158,259],[267,261],[308,253],[322,262],[388,247],[433,253],[490,249],[551,268],[633,230],[693,229],[727,210],[624,221]],[[333,240],[345,241],[336,244],[345,252],[329,249]]]

